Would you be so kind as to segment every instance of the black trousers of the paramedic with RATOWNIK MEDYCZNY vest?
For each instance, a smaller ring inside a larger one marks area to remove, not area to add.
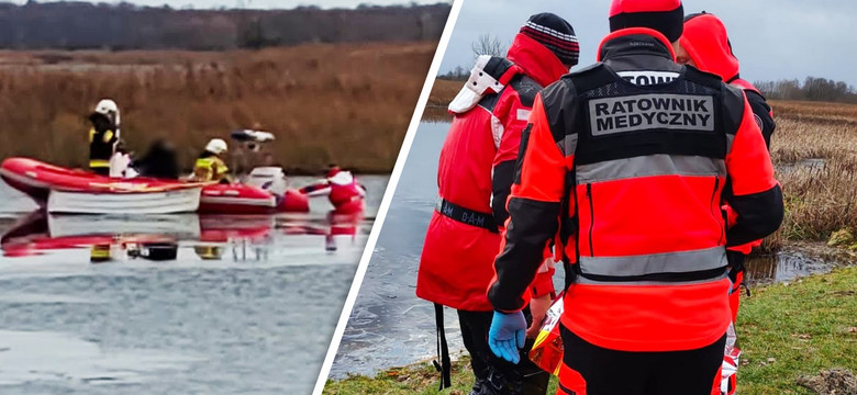
[[[565,327],[560,332],[564,348],[560,393],[711,395],[715,382],[720,386],[725,334],[714,343],[695,350],[630,352],[598,347]],[[586,382],[586,392],[580,379]]]

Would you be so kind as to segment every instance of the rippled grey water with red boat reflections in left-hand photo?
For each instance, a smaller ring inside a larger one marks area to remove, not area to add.
[[[310,393],[387,177],[361,181],[357,225],[325,201],[300,215],[22,216],[34,205],[0,182],[0,393]],[[93,246],[109,260],[92,263]]]

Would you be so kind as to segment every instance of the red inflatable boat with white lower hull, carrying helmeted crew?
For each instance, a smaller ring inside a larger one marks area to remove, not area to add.
[[[0,165],[0,178],[51,213],[170,214],[199,211],[269,214],[310,211],[307,195],[285,187],[277,195],[265,190],[265,184],[115,179],[27,158],[4,160]]]

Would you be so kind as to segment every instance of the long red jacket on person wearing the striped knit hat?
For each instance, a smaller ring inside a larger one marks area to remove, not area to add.
[[[550,50],[522,34],[505,59],[480,57],[449,106],[455,119],[437,168],[439,199],[469,214],[461,221],[435,211],[425,235],[416,296],[457,309],[492,309],[486,290],[500,250],[498,228],[508,216],[504,202],[521,132],[536,93],[567,71]],[[467,88],[474,83],[476,91]],[[531,292],[552,293],[552,274],[553,270],[541,274],[530,284]]]

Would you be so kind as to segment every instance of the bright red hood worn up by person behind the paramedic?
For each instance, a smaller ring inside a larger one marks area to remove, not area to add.
[[[690,58],[702,71],[713,72],[724,81],[738,76],[738,59],[732,54],[726,26],[713,14],[701,14],[685,22],[679,40]]]

